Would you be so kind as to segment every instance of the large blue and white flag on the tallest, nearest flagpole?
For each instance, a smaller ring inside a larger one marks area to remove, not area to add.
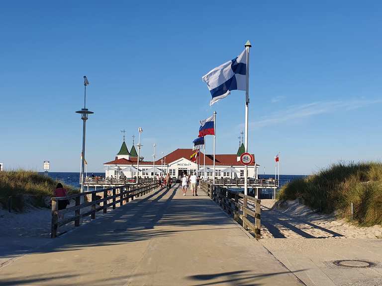
[[[202,77],[207,83],[212,99],[209,105],[230,94],[231,90],[246,90],[247,53],[244,50],[238,57]]]

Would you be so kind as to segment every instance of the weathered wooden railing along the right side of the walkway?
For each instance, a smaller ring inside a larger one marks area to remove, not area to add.
[[[243,225],[245,229],[250,229],[255,233],[255,238],[261,237],[261,200],[251,196],[246,196],[238,192],[231,192],[227,188],[212,185],[209,182],[200,181],[199,186],[201,190],[207,194],[211,200],[215,201],[223,210],[231,214],[233,218]],[[248,208],[248,201],[252,202],[255,206],[255,211]],[[255,219],[253,223],[248,217],[251,216]]]

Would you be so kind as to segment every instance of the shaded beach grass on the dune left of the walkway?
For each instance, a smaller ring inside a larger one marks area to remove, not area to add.
[[[46,207],[46,198],[52,196],[58,181],[34,171],[12,170],[0,172],[0,204],[5,208],[8,198],[12,197],[12,208],[22,211],[25,198],[36,207]],[[63,184],[64,185],[64,184]],[[78,190],[64,185],[68,193]]]

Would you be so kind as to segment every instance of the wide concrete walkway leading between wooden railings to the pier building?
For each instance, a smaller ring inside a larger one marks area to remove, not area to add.
[[[177,184],[178,186],[178,184]],[[0,285],[301,285],[202,192],[159,190],[0,269]]]

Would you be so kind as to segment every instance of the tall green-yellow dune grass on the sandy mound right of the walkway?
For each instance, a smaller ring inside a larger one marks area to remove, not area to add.
[[[340,162],[281,188],[281,200],[297,198],[319,212],[336,211],[349,220],[353,203],[355,222],[362,226],[382,224],[382,163]]]

